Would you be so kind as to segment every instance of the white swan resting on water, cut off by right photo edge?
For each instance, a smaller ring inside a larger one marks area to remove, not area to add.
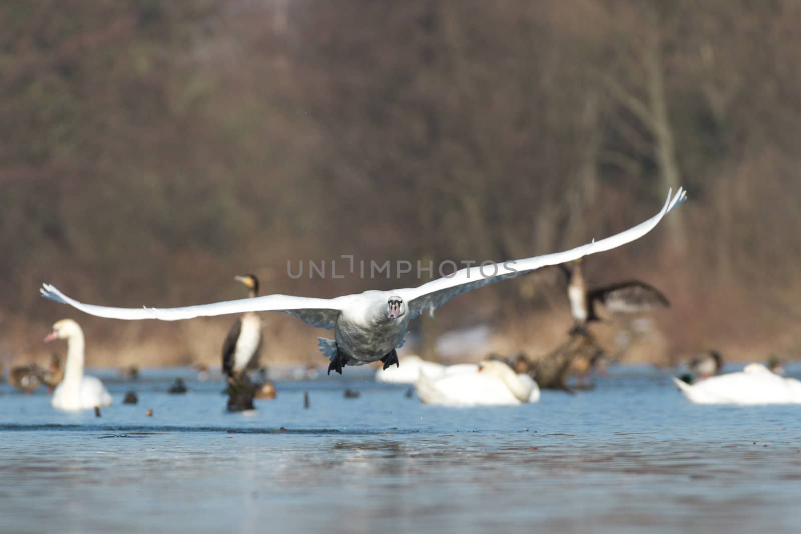
[[[675,377],[673,382],[696,404],[801,404],[801,381],[776,375],[761,363],[693,384]]]

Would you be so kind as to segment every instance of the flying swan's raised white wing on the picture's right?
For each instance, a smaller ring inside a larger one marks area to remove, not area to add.
[[[668,191],[665,206],[662,207],[662,210],[659,211],[658,214],[650,219],[626,231],[622,231],[619,234],[601,239],[600,241],[587,243],[581,247],[570,249],[570,251],[555,252],[553,254],[517,259],[515,261],[503,263],[494,263],[493,265],[487,265],[485,267],[468,267],[466,269],[461,269],[461,271],[456,271],[453,275],[433,280],[433,282],[424,283],[418,287],[399,289],[394,291],[394,293],[406,301],[410,318],[413,319],[417,317],[417,315],[420,315],[425,309],[429,309],[429,314],[433,314],[434,308],[442,306],[450,299],[453,299],[453,297],[461,295],[471,289],[477,289],[478,287],[484,287],[490,283],[514,278],[517,275],[522,275],[547,265],[557,265],[558,263],[570,262],[582,256],[595,254],[596,252],[608,251],[625,245],[635,239],[639,239],[653,230],[668,211],[677,207],[684,202],[685,199],[686,191],[681,187],[678,188],[676,195],[672,198],[670,196],[670,191]]]

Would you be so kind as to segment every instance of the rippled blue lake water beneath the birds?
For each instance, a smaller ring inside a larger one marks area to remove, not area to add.
[[[652,367],[509,408],[347,368],[278,380],[249,415],[191,369],[94,374],[99,418],[0,384],[0,531],[799,532],[801,406],[690,404]]]

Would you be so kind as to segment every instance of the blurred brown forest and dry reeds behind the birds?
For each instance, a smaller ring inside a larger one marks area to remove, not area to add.
[[[45,362],[69,316],[90,365],[219,364],[234,319],[96,319],[42,282],[130,307],[244,297],[245,272],[263,293],[413,286],[286,263],[557,251],[679,184],[656,231],[587,262],[671,300],[626,357],[801,356],[798,0],[9,0],[0,27],[0,361]],[[265,319],[264,361],[325,363],[324,331]],[[570,322],[543,273],[413,327],[537,355]]]

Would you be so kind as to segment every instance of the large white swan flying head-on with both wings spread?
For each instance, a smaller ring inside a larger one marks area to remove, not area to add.
[[[56,302],[70,304],[91,315],[111,319],[191,319],[201,315],[223,315],[245,311],[283,311],[314,327],[334,330],[334,339],[319,339],[320,351],[331,359],[328,372],[341,373],[345,365],[363,365],[381,361],[384,367],[398,363],[396,348],[404,343],[409,320],[426,309],[429,315],[450,299],[489,283],[514,278],[547,265],[557,265],[582,256],[608,251],[639,239],[662,220],[662,217],[686,198],[680,187],[676,195],[667,195],[662,210],[650,219],[619,234],[593,241],[569,251],[532,258],[469,267],[424,283],[393,291],[364,291],[336,299],[312,299],[289,295],[265,295],[255,299],[231,300],[200,306],[175,308],[123,308],[95,306],[70,299],[49,284],[42,285],[42,295]]]

